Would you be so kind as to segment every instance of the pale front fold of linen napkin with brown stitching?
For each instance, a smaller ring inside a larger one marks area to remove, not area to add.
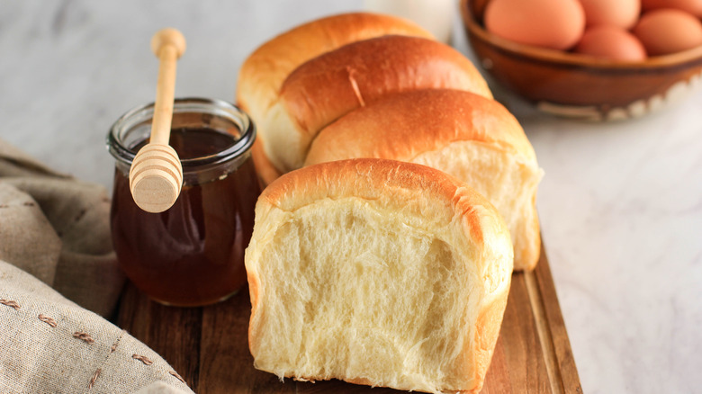
[[[0,261],[0,393],[192,393],[158,354]]]

